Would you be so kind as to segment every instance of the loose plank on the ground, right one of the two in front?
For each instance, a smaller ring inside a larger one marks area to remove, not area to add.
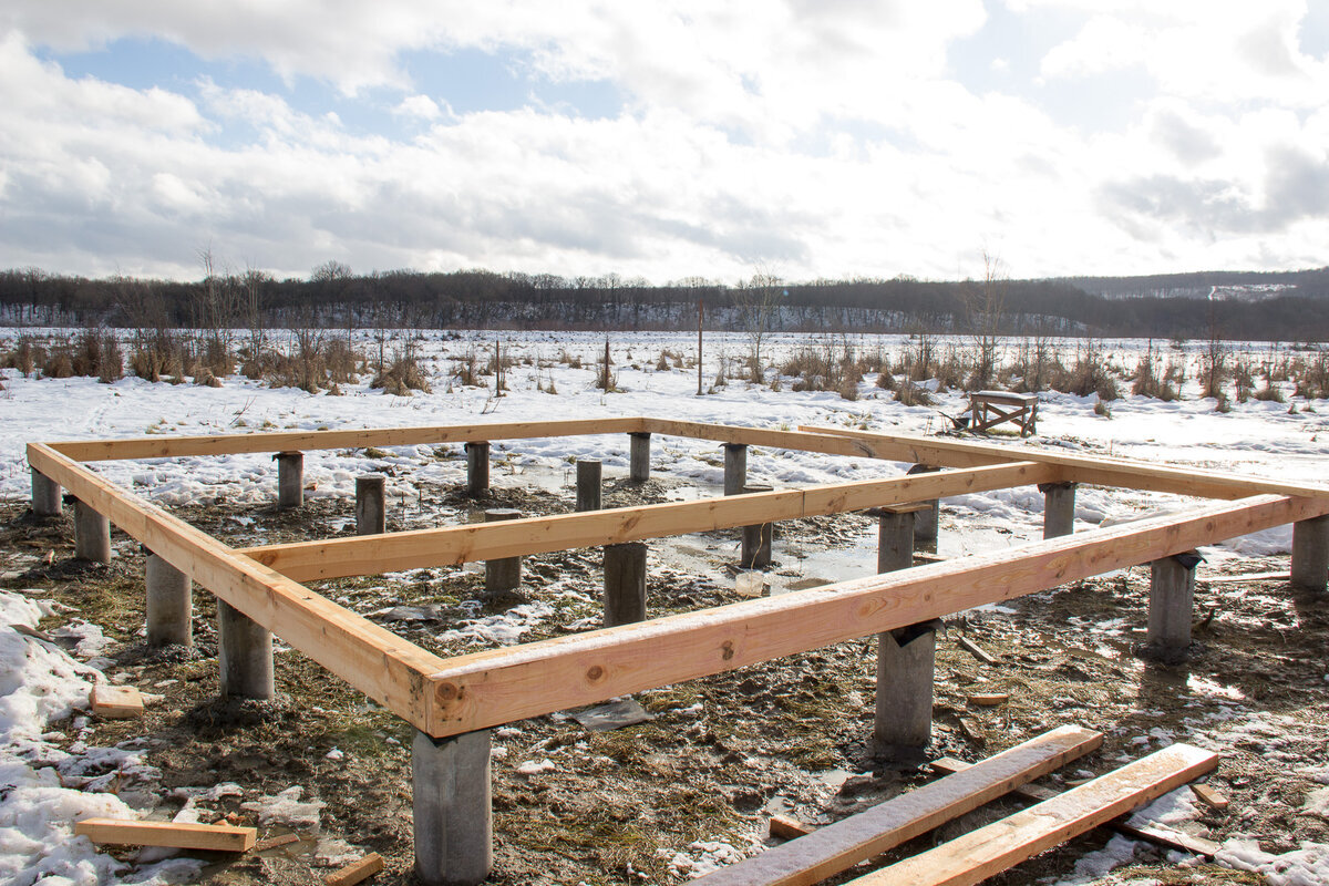
[[[1142,806],[1219,765],[1175,744],[1053,800],[851,881],[853,886],[969,886]]]

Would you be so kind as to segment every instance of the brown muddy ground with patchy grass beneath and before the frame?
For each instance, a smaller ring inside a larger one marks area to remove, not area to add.
[[[405,517],[389,519],[389,529],[457,522],[482,507],[517,503],[526,514],[560,513],[569,510],[570,495],[494,490],[488,501],[472,502],[456,489],[421,489],[413,507],[396,509]],[[606,506],[671,497],[658,481],[617,485],[606,490]],[[351,503],[330,499],[314,499],[298,513],[226,502],[177,513],[234,545],[342,535],[354,523]],[[944,511],[942,531],[956,519]],[[870,526],[865,517],[843,515],[781,530],[776,570],[791,565],[791,541],[843,545]],[[72,531],[68,513],[43,521],[23,505],[0,507],[0,586],[35,588],[70,607],[47,619],[44,630],[74,618],[102,626],[114,639],[104,652],[110,659],[102,663],[106,675],[161,696],[142,720],[93,719],[89,744],[146,747],[148,762],[162,773],[159,782],[110,788],[155,818],[169,818],[183,804],[173,789],[227,781],[243,794],[201,802],[203,821],[259,824],[242,804],[292,786],[303,789],[303,801],[326,804],[316,825],[294,828],[298,842],[241,858],[207,857],[206,882],[308,883],[339,857],[371,850],[388,865],[373,882],[411,882],[409,727],[280,646],[276,703],[218,704],[213,598],[195,594],[193,651],[152,652],[142,638],[138,545],[117,531],[113,563],[88,565],[72,559]],[[735,558],[731,534],[702,537],[702,546],[716,563]],[[738,599],[720,573],[715,579],[687,575],[658,559],[653,553],[651,616]],[[867,571],[870,565],[864,566]],[[1285,570],[1286,559],[1233,561],[1227,569]],[[1201,575],[1213,574],[1201,566]],[[594,626],[599,582],[597,551],[528,558],[522,595],[526,603],[548,604],[549,612],[522,639]],[[482,573],[470,567],[328,582],[319,590],[448,655],[480,648],[466,636],[449,635],[451,628],[521,603],[486,599],[482,586]],[[1220,842],[1247,834],[1267,851],[1286,851],[1298,841],[1329,842],[1325,820],[1301,808],[1317,784],[1298,772],[1326,762],[1329,599],[1294,592],[1280,580],[1201,582],[1197,644],[1187,664],[1168,667],[1132,652],[1143,640],[1147,590],[1147,567],[1132,569],[948,619],[937,648],[933,753],[977,760],[1061,724],[1103,731],[1099,752],[1043,780],[1065,788],[1063,778],[1107,772],[1171,740],[1217,741],[1224,760],[1209,782],[1231,806],[1201,808],[1200,818],[1184,829]],[[998,664],[961,650],[962,636]],[[634,727],[589,732],[553,715],[496,731],[490,882],[683,882],[695,870],[692,862],[727,851],[720,843],[746,851],[764,836],[775,812],[825,824],[926,781],[930,776],[921,772],[877,766],[867,753],[873,673],[873,642],[864,639],[639,693],[654,720]],[[979,691],[1007,692],[1010,700],[994,708],[969,704],[968,696]],[[330,758],[334,749],[340,758]],[[534,772],[521,774],[521,768]],[[1015,808],[994,804],[890,858]],[[259,838],[291,830],[267,824]],[[1076,859],[1107,840],[1091,833],[991,882],[1069,877]],[[1259,882],[1252,874],[1203,863],[1179,867],[1176,861],[1140,843],[1136,863],[1118,875],[1166,883]]]

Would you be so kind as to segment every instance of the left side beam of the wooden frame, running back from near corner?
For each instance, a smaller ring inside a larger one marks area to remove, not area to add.
[[[416,727],[429,727],[432,696],[425,675],[444,667],[444,659],[238,555],[44,444],[28,445],[28,462],[332,673]]]

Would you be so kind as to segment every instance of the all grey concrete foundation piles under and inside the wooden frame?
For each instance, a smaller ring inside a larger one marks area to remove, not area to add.
[[[631,434],[630,480],[650,476],[650,434]],[[279,453],[278,505],[303,503],[303,456]],[[489,444],[466,445],[466,489],[481,495],[489,487]],[[938,470],[916,465],[910,473]],[[356,480],[359,534],[385,529],[385,478],[365,474]],[[602,470],[598,461],[577,464],[577,510],[598,510]],[[747,484],[747,446],[724,444],[724,494],[764,491]],[[1069,535],[1074,527],[1075,485],[1039,486],[1045,495],[1043,538]],[[32,473],[32,506],[37,515],[58,515],[57,484]],[[937,538],[938,502],[880,507],[868,511],[878,521],[877,571],[908,569],[918,541]],[[512,519],[509,509],[486,511],[486,519]],[[771,523],[742,530],[742,565],[760,569],[771,562]],[[109,562],[109,521],[74,502],[76,557]],[[646,618],[646,545],[605,546],[605,624],[629,624]],[[1148,634],[1143,652],[1179,662],[1191,647],[1195,569],[1193,553],[1167,557],[1151,565]],[[1302,521],[1293,527],[1292,579],[1300,587],[1325,590],[1329,579],[1329,517]],[[521,558],[485,563],[486,591],[516,590]],[[152,646],[193,643],[189,578],[149,553],[148,642]],[[914,765],[925,758],[932,740],[933,672],[937,622],[881,634],[877,655],[873,754],[885,761]],[[272,636],[238,610],[218,600],[218,658],[223,696],[268,699],[274,693]],[[416,731],[412,743],[412,789],[416,869],[421,882],[480,883],[492,867],[490,731],[433,739]]]

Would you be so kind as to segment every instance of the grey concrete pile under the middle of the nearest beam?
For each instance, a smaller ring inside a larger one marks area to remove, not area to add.
[[[904,765],[926,760],[937,622],[877,635],[877,713],[872,754]]]

